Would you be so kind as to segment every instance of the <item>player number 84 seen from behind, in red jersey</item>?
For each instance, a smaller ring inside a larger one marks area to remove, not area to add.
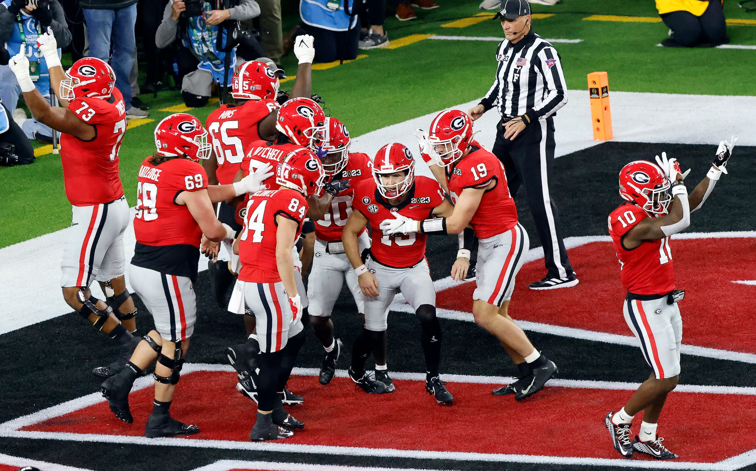
[[[278,163],[277,189],[253,193],[246,203],[234,294],[241,293],[257,325],[258,411],[249,433],[253,441],[288,438],[292,429],[304,426],[283,410],[281,393],[305,341],[304,293],[295,279],[292,252],[307,214],[307,197],[320,195],[324,177],[318,157],[299,149]]]

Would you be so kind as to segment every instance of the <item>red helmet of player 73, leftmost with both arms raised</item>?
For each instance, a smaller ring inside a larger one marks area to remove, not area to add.
[[[64,100],[76,98],[110,98],[116,85],[113,67],[97,57],[84,57],[73,63],[60,81],[60,97]]]

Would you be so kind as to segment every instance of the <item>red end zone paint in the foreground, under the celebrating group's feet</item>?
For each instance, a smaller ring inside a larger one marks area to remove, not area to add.
[[[202,432],[191,436],[193,439],[246,442],[256,408],[234,389],[236,381],[235,374],[224,372],[184,375],[172,416],[200,426]],[[632,391],[622,390],[547,387],[533,399],[518,403],[511,396],[492,396],[493,385],[449,383],[454,406],[441,407],[426,394],[422,382],[395,383],[397,390],[392,394],[368,396],[355,391],[348,378],[337,377],[329,386],[321,386],[314,377],[292,377],[291,389],[306,400],[302,406],[287,409],[306,426],[283,442],[618,458],[603,417],[632,395]],[[23,430],[141,436],[152,398],[151,387],[132,393],[131,425],[117,420],[107,402],[101,402]],[[738,414],[732,414],[733,402],[738,404]],[[706,414],[690,414],[691,410]],[[756,448],[756,423],[742,419],[754,414],[756,396],[673,392],[658,431],[665,437],[665,445],[683,460],[716,462]],[[636,417],[634,433],[642,418]],[[576,434],[581,435],[580,443],[590,446],[575,446]]]

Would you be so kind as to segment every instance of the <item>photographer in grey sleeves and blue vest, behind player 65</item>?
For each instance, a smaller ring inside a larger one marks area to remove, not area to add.
[[[260,7],[255,0],[237,0],[237,5],[223,10],[213,10],[211,2],[205,0],[168,2],[155,44],[163,49],[175,38],[181,39],[183,48],[178,49],[178,75],[183,75],[181,97],[187,106],[205,106],[214,82],[223,83],[225,78],[225,85],[231,85],[237,66],[236,47],[228,53],[218,51],[218,48],[225,48],[228,41],[233,43],[233,39],[227,36],[236,27],[234,22],[249,20],[259,14]],[[226,54],[231,55],[228,60]],[[229,64],[228,72],[225,63]]]

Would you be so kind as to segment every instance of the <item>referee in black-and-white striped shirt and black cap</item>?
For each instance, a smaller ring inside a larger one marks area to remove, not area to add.
[[[494,19],[501,19],[506,38],[496,53],[499,66],[494,85],[467,113],[473,120],[497,106],[494,155],[507,173],[514,197],[522,184],[544,246],[548,273],[530,284],[534,290],[567,288],[578,284],[559,230],[559,213],[549,192],[554,162],[554,119],[567,103],[559,54],[531,29],[527,0],[504,0]]]

